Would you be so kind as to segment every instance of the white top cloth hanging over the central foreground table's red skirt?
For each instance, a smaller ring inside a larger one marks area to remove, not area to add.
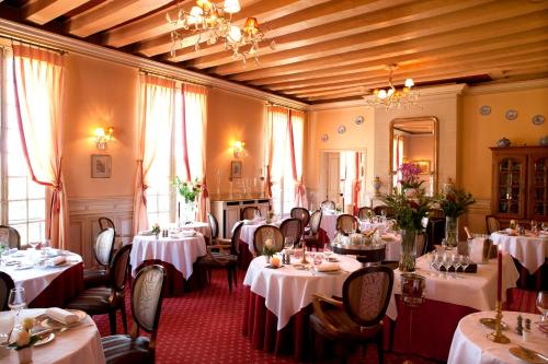
[[[312,302],[312,293],[326,296],[342,295],[342,285],[350,272],[362,267],[354,258],[336,256],[344,272],[312,274],[293,266],[270,269],[263,256],[251,261],[243,280],[251,292],[264,297],[265,306],[277,317],[277,330],[282,330],[293,315]],[[311,259],[310,259],[311,260]],[[296,262],[296,260],[292,260]]]

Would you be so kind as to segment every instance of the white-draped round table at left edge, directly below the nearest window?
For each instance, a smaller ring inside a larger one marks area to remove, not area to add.
[[[50,263],[58,257],[65,260]],[[15,287],[25,290],[28,307],[65,307],[84,289],[82,257],[68,250],[30,248],[3,254],[0,271],[11,277]]]

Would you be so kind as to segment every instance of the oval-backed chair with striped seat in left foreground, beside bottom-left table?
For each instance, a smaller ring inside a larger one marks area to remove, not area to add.
[[[137,273],[132,286],[134,326],[130,334],[113,334],[101,339],[107,364],[155,363],[165,279],[165,269],[158,265],[147,266]],[[140,337],[139,329],[150,333],[150,338]]]

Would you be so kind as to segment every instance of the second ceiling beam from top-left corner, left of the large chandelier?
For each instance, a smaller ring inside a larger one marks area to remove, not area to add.
[[[70,34],[87,37],[167,5],[172,0],[116,0],[103,2],[67,21]]]

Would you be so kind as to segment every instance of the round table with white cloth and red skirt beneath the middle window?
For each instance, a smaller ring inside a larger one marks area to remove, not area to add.
[[[168,272],[165,294],[181,295],[185,289],[198,285],[194,278],[194,266],[199,257],[207,254],[204,235],[195,231],[181,231],[170,236],[136,235],[133,239],[129,262],[132,275],[136,277],[141,267],[161,265]]]

